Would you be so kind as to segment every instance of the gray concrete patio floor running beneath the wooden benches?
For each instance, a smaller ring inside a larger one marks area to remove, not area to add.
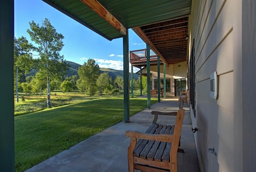
[[[199,172],[196,147],[188,106],[186,110],[180,148],[185,153],[178,153],[178,172]],[[178,110],[178,98],[166,98],[130,117],[130,122],[119,122],[106,130],[76,144],[68,150],[45,160],[26,172],[128,172],[127,148],[130,138],[127,130],[145,132],[154,118],[152,110],[172,112]],[[160,124],[174,124],[174,116],[158,117]]]

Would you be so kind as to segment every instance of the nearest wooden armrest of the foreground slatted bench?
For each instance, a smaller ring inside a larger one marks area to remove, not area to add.
[[[130,138],[140,138],[146,140],[154,140],[160,142],[172,142],[173,135],[172,134],[147,134],[136,131],[126,131],[125,135]]]

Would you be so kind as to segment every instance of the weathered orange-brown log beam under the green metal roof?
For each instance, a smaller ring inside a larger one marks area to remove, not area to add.
[[[97,0],[81,0],[92,11],[98,14],[121,34],[126,35],[126,28]]]

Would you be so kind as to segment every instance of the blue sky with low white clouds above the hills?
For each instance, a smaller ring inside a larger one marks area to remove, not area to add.
[[[112,41],[103,38],[72,18],[59,12],[42,0],[14,0],[14,36],[25,36],[29,42],[28,22],[36,23],[48,18],[58,33],[64,36],[64,47],[60,54],[67,61],[84,64],[89,58],[94,59],[101,68],[123,70],[122,38]],[[129,29],[129,50],[146,48],[146,44]],[[134,67],[134,72],[138,68]]]

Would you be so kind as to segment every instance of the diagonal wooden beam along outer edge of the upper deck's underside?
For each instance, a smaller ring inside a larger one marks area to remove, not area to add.
[[[132,28],[132,30],[146,43],[149,44],[150,48],[160,57],[160,59],[166,63],[166,66],[169,66],[169,64],[166,62],[166,60],[163,58],[163,56],[158,52],[157,48],[152,44],[152,42],[148,39],[146,34],[140,29],[140,27]]]

